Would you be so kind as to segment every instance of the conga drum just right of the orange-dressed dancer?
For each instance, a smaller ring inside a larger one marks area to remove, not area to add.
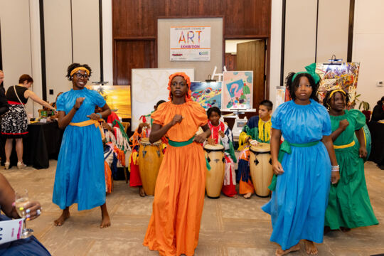
[[[220,197],[225,174],[224,146],[221,144],[204,146],[206,159],[210,170],[206,173],[206,190],[208,198],[217,199]]]

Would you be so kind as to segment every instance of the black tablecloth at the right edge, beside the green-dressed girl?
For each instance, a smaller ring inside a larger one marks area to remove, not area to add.
[[[368,128],[372,137],[372,149],[368,160],[384,166],[384,124],[369,122]]]

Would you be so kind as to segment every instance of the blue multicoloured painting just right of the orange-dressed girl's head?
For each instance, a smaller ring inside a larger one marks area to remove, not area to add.
[[[221,109],[221,82],[191,82],[192,100],[208,110]]]

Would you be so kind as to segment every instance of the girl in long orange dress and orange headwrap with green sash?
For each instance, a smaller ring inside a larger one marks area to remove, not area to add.
[[[151,114],[149,142],[164,135],[169,146],[161,163],[144,245],[160,255],[193,255],[198,245],[206,188],[206,159],[200,143],[210,136],[206,111],[191,100],[185,73],[169,77],[169,102]],[[198,127],[203,133],[196,135]]]

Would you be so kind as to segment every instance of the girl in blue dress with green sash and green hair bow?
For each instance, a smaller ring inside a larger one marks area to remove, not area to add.
[[[270,144],[277,178],[272,198],[262,210],[271,215],[270,240],[281,246],[276,255],[299,250],[300,240],[307,254],[318,252],[314,242],[323,242],[329,187],[340,178],[329,114],[317,102],[320,78],[315,68],[313,63],[306,67],[308,72],[288,75],[292,100],[272,115]]]

